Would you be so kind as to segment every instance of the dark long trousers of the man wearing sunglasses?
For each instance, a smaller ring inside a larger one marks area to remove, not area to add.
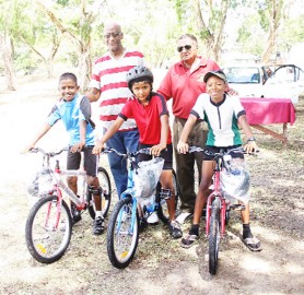
[[[173,145],[176,161],[176,175],[180,188],[180,210],[182,212],[192,213],[195,210],[196,192],[195,192],[195,163],[198,167],[199,181],[201,179],[202,153],[179,154],[176,150],[183,128],[186,123],[185,119],[176,118],[173,122]],[[207,140],[206,122],[197,121],[188,137],[188,144],[204,148]]]

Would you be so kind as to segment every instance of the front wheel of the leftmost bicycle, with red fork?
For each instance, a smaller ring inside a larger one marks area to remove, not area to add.
[[[32,208],[25,226],[30,253],[42,263],[52,263],[66,252],[72,234],[70,209],[56,196],[43,196]]]

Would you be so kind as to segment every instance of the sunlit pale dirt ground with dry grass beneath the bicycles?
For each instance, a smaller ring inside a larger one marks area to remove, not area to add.
[[[183,249],[162,224],[141,234],[127,269],[115,269],[107,258],[106,234],[91,234],[87,213],[74,226],[70,247],[59,261],[42,264],[31,257],[24,237],[32,203],[26,185],[39,158],[20,151],[49,113],[57,82],[38,78],[19,82],[14,93],[0,87],[0,294],[304,294],[303,98],[295,123],[289,126],[288,148],[256,133],[261,151],[247,161],[253,182],[252,228],[262,251],[250,252],[242,244],[238,214],[233,212],[220,245],[218,274],[210,276],[203,233],[197,246]],[[39,145],[59,149],[66,142],[58,125]],[[113,199],[117,200],[115,192]],[[203,231],[203,221],[201,225]],[[184,225],[185,232],[188,226]]]

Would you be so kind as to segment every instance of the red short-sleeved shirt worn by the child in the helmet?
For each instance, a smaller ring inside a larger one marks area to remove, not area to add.
[[[161,116],[168,115],[165,98],[152,92],[152,97],[147,106],[136,97],[129,98],[121,113],[118,115],[124,120],[133,118],[139,130],[139,142],[142,144],[159,144],[161,141]],[[168,128],[167,144],[172,143]]]

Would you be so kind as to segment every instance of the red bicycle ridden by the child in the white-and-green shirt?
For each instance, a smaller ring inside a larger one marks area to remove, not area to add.
[[[203,152],[214,156],[215,167],[212,178],[213,184],[206,205],[206,237],[209,243],[209,273],[214,275],[218,270],[220,239],[225,234],[225,225],[227,225],[230,220],[230,212],[231,210],[245,210],[244,204],[233,203],[231,200],[227,200],[226,193],[222,189],[221,175],[224,168],[230,169],[231,153],[246,154],[246,152],[244,152],[243,148],[236,148],[230,149],[227,152],[220,151],[219,153],[212,153],[196,146],[189,146],[188,152]]]

